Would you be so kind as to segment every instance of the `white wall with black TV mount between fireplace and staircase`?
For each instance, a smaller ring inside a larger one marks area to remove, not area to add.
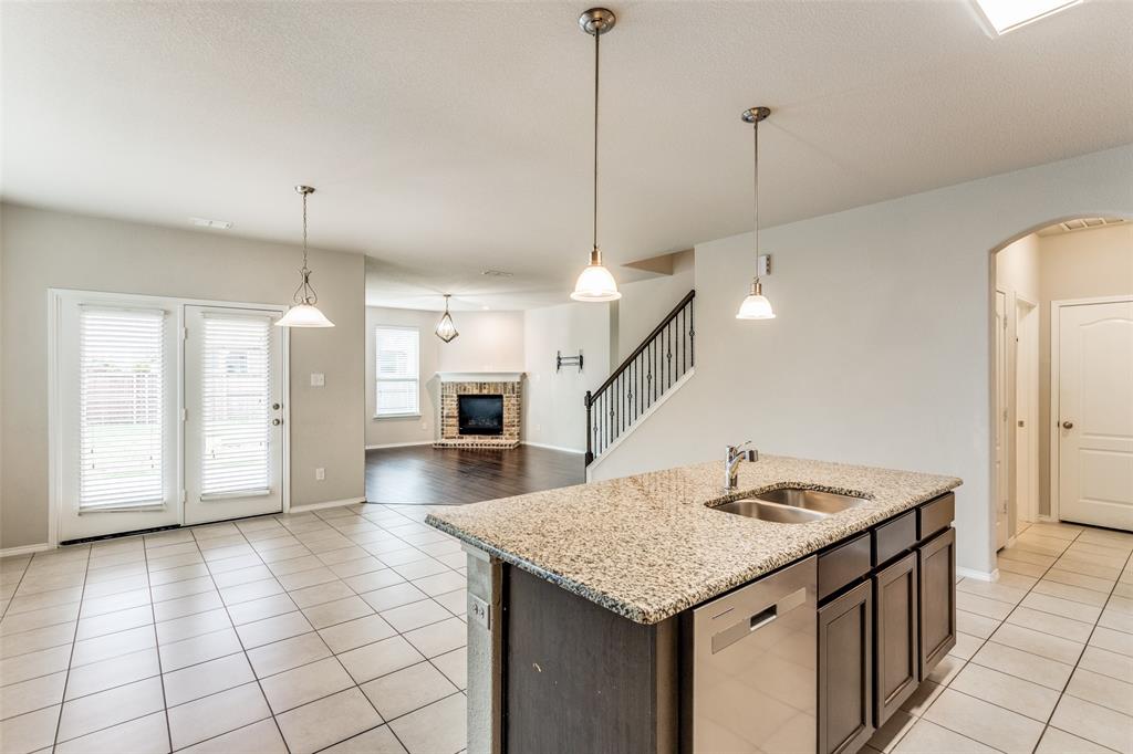
[[[555,351],[583,355],[583,371],[555,372]],[[610,306],[564,303],[523,312],[523,440],[586,449],[582,399],[610,374]]]

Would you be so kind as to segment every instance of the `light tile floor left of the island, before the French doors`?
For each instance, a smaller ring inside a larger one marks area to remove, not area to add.
[[[426,512],[0,560],[0,752],[463,749],[465,556]]]

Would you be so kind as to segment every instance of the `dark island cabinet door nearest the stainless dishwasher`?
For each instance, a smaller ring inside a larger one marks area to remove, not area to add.
[[[874,735],[872,584],[818,610],[818,752],[855,752]]]

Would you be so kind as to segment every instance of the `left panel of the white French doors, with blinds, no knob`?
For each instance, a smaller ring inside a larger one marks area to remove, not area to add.
[[[59,540],[176,525],[177,311],[69,293],[57,303]]]

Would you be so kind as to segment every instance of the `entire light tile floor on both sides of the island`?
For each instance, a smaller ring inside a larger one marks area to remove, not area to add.
[[[466,745],[465,556],[349,506],[0,560],[0,752]],[[1036,524],[883,752],[1133,753],[1133,535]]]

